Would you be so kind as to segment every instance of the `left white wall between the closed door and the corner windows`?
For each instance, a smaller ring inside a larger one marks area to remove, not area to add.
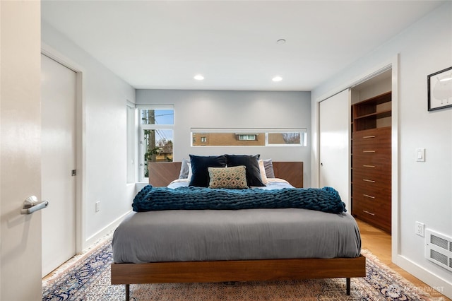
[[[44,22],[42,42],[44,49],[82,73],[78,134],[83,148],[77,180],[83,183],[79,202],[84,249],[131,210],[135,184],[126,179],[126,101],[135,102],[135,89]],[[100,201],[97,213],[96,201]]]

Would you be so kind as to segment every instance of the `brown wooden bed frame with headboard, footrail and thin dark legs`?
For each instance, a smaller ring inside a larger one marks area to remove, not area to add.
[[[166,186],[179,177],[181,163],[150,163],[149,182]],[[302,162],[273,162],[275,177],[287,179],[295,187],[303,186]],[[278,281],[314,278],[350,278],[366,276],[366,258],[265,259],[238,261],[177,261],[145,264],[112,264],[111,283],[124,284],[126,301],[130,285],[141,283],[213,283],[229,281]]]

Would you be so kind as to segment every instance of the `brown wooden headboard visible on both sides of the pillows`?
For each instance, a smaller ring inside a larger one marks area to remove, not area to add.
[[[154,187],[167,186],[174,179],[179,179],[181,170],[180,162],[150,162],[149,184]],[[303,187],[303,163],[302,162],[273,162],[275,177],[285,179],[294,187]]]

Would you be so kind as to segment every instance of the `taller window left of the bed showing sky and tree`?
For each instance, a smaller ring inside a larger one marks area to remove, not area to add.
[[[145,106],[140,118],[140,176],[149,177],[148,162],[172,162],[174,143],[174,108]]]

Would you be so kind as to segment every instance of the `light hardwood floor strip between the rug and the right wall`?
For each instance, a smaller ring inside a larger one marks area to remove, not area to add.
[[[391,235],[364,223],[362,220],[357,219],[357,223],[359,231],[361,232],[362,249],[368,249],[372,254],[378,257],[383,264],[386,264],[394,271],[398,272],[417,288],[420,288],[420,290],[424,290],[424,292],[429,293],[432,297],[443,297],[443,300],[451,301],[448,297],[433,290],[429,285],[423,283],[415,276],[412,276],[410,273],[391,262]]]

